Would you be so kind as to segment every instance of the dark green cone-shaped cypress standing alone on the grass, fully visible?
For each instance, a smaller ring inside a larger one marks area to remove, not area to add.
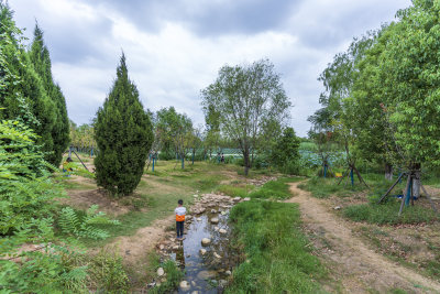
[[[99,153],[95,159],[99,186],[113,195],[131,194],[141,181],[153,143],[153,127],[129,79],[122,53],[117,79],[95,122]]]

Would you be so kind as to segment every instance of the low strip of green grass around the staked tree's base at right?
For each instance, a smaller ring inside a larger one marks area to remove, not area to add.
[[[438,219],[433,210],[421,206],[405,207],[402,216],[398,216],[399,206],[400,202],[352,205],[343,209],[343,216],[354,221],[377,225],[420,224]]]

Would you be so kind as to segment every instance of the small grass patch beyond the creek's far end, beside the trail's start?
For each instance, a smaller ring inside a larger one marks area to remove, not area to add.
[[[258,199],[287,199],[292,197],[289,183],[298,182],[299,177],[282,177],[276,181],[270,181],[261,188],[249,194],[251,198]]]

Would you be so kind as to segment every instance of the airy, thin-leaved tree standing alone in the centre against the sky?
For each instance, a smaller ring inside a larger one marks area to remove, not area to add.
[[[288,118],[290,101],[274,65],[267,59],[252,65],[226,65],[201,97],[205,115],[213,108],[221,132],[240,146],[248,175],[251,156],[261,146],[260,138],[277,135],[267,132],[272,130],[268,126],[283,126]]]

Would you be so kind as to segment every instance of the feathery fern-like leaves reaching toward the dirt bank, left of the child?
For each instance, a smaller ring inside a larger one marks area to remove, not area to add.
[[[62,231],[81,238],[106,239],[110,235],[96,226],[99,225],[121,225],[119,220],[110,220],[106,213],[97,211],[98,205],[92,205],[84,217],[78,216],[72,207],[62,209],[58,225]]]

